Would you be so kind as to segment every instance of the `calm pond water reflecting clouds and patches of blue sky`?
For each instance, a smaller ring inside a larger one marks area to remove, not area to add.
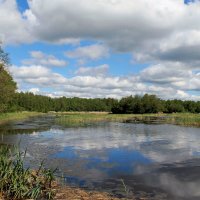
[[[0,127],[1,144],[28,149],[65,183],[118,197],[200,199],[200,129],[167,124],[100,123],[56,126],[52,117]]]

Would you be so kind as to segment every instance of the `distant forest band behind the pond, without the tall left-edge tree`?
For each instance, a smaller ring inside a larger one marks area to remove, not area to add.
[[[144,114],[144,113],[200,113],[200,102],[182,100],[161,100],[156,95],[129,96],[121,100],[112,98],[51,98],[33,93],[15,93],[7,106],[6,112],[37,111],[37,112],[66,112],[66,111],[104,111],[115,114]]]

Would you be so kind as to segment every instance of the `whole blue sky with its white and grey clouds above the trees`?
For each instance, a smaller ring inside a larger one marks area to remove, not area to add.
[[[18,91],[200,100],[198,0],[0,0]]]

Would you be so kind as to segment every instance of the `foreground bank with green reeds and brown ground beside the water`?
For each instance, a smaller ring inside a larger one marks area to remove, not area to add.
[[[107,193],[84,191],[79,188],[59,186],[54,171],[46,169],[43,164],[38,169],[24,167],[26,152],[18,148],[0,146],[0,199],[1,200],[117,200]]]

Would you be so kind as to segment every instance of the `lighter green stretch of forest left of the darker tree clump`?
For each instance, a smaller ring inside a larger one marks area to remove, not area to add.
[[[37,112],[65,112],[65,111],[111,111],[117,102],[115,99],[85,99],[85,98],[50,98],[33,93],[16,93],[15,98],[10,102],[12,111],[27,110]]]

